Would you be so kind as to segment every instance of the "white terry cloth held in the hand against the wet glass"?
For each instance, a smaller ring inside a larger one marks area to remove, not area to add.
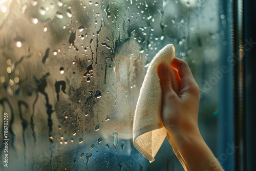
[[[136,105],[133,143],[150,162],[155,160],[155,156],[166,137],[166,129],[163,126],[161,116],[162,90],[157,68],[161,62],[165,62],[169,66],[173,89],[178,92],[178,82],[170,66],[174,56],[174,46],[167,45],[153,58],[147,69]]]

